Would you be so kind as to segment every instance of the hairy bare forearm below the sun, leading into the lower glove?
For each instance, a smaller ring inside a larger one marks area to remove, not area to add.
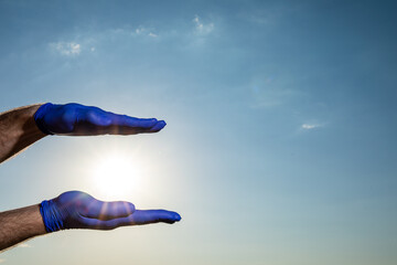
[[[0,213],[0,251],[45,233],[39,204]]]

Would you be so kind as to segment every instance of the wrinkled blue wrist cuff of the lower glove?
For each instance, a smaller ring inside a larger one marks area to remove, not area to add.
[[[40,213],[47,233],[64,230],[62,215],[52,200],[40,203]]]

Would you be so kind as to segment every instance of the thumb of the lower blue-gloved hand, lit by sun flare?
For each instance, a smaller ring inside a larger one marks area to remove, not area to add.
[[[88,204],[87,211],[82,214],[90,219],[111,220],[127,218],[133,212],[135,205],[130,202],[103,202],[94,199]]]

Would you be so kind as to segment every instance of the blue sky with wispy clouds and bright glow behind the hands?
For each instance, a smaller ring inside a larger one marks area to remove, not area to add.
[[[40,140],[1,165],[0,211],[82,190],[182,215],[36,237],[0,264],[396,264],[396,6],[0,0],[0,112],[168,124]],[[129,168],[100,170],[115,157]]]

